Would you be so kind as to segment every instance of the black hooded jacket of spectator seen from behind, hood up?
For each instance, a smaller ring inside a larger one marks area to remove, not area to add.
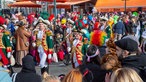
[[[30,55],[22,59],[22,70],[16,76],[16,82],[41,82],[41,76],[36,74],[33,57]]]

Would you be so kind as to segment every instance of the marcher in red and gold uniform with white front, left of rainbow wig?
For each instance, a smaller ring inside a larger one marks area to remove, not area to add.
[[[82,52],[82,35],[79,32],[75,32],[75,40],[73,41],[72,48],[72,66],[76,68],[82,64],[83,54]]]

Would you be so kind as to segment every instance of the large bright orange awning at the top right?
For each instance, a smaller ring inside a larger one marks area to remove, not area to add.
[[[138,7],[146,7],[146,0],[127,0],[127,10],[135,11]],[[124,11],[125,0],[98,0],[95,7],[101,12]]]

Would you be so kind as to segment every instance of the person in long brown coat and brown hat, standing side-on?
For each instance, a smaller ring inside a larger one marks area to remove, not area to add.
[[[26,56],[29,51],[29,38],[31,37],[31,33],[27,31],[26,25],[26,19],[23,16],[19,16],[19,27],[15,32],[16,63],[18,66],[22,65],[22,58]]]

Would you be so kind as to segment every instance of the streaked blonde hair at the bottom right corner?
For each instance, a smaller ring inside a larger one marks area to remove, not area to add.
[[[135,70],[131,68],[119,68],[111,75],[110,82],[143,82]]]

